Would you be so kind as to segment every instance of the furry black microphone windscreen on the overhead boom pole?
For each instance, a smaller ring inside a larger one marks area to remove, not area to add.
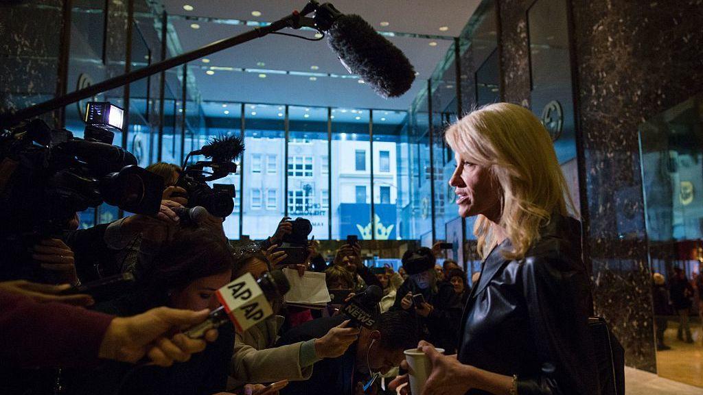
[[[415,70],[405,54],[359,15],[342,15],[328,31],[330,48],[349,71],[385,98],[406,93]]]

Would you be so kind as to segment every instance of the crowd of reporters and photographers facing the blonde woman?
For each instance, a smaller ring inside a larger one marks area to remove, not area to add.
[[[363,384],[376,372],[396,375],[403,350],[418,339],[456,342],[460,294],[434,273],[438,251],[408,252],[417,256],[404,257],[405,277],[390,266],[365,266],[356,242],[343,244],[328,263],[310,241],[304,261],[291,264],[277,248],[293,231],[288,218],[271,238],[232,247],[224,219],[208,214],[192,221],[179,211],[188,202],[174,186],[179,167],[148,169],[166,180],[157,214],[86,229],[78,229],[76,215],[63,235],[30,250],[41,276],[2,276],[1,393],[381,393],[380,380],[366,390]],[[377,322],[358,328],[340,313],[342,304],[311,310],[279,299],[272,316],[245,331],[223,325],[202,338],[183,333],[217,309],[215,292],[231,280],[282,266],[299,276],[325,273],[328,289],[345,290],[347,300],[380,287]],[[136,281],[109,299],[66,292],[118,273]],[[410,309],[412,292],[425,294],[426,302]]]

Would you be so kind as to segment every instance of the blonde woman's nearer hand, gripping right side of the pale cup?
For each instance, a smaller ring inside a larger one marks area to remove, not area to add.
[[[463,395],[474,387],[470,375],[470,366],[460,363],[456,356],[439,354],[432,344],[420,341],[418,349],[422,350],[432,363],[432,373],[427,377],[425,389],[420,395]]]

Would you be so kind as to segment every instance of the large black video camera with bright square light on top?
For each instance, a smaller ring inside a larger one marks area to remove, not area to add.
[[[9,262],[0,277],[34,277],[34,269],[21,267],[29,266],[22,265],[27,248],[64,231],[76,212],[103,202],[138,214],[159,211],[162,177],[112,145],[122,109],[90,102],[85,121],[84,138],[41,119],[0,131],[0,253]]]

